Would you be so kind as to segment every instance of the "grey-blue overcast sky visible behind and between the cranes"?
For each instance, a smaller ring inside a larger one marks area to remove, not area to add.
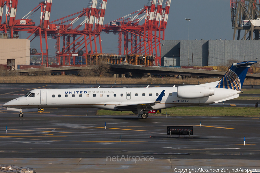
[[[148,0],[107,1],[104,24],[140,10],[148,3]],[[89,0],[53,0],[50,21],[79,12],[88,4]],[[16,19],[22,18],[37,5],[39,5],[39,1],[19,0]],[[38,25],[40,11],[30,18]],[[233,39],[229,0],[172,0],[165,40],[187,40],[187,21],[185,18],[191,18],[189,40]],[[20,38],[26,37],[27,33],[20,33]],[[118,35],[114,34],[101,34],[103,52],[117,53],[117,37]],[[50,41],[51,55],[55,53],[55,42],[52,39]],[[39,49],[38,45],[39,39],[31,42],[31,48]]]

